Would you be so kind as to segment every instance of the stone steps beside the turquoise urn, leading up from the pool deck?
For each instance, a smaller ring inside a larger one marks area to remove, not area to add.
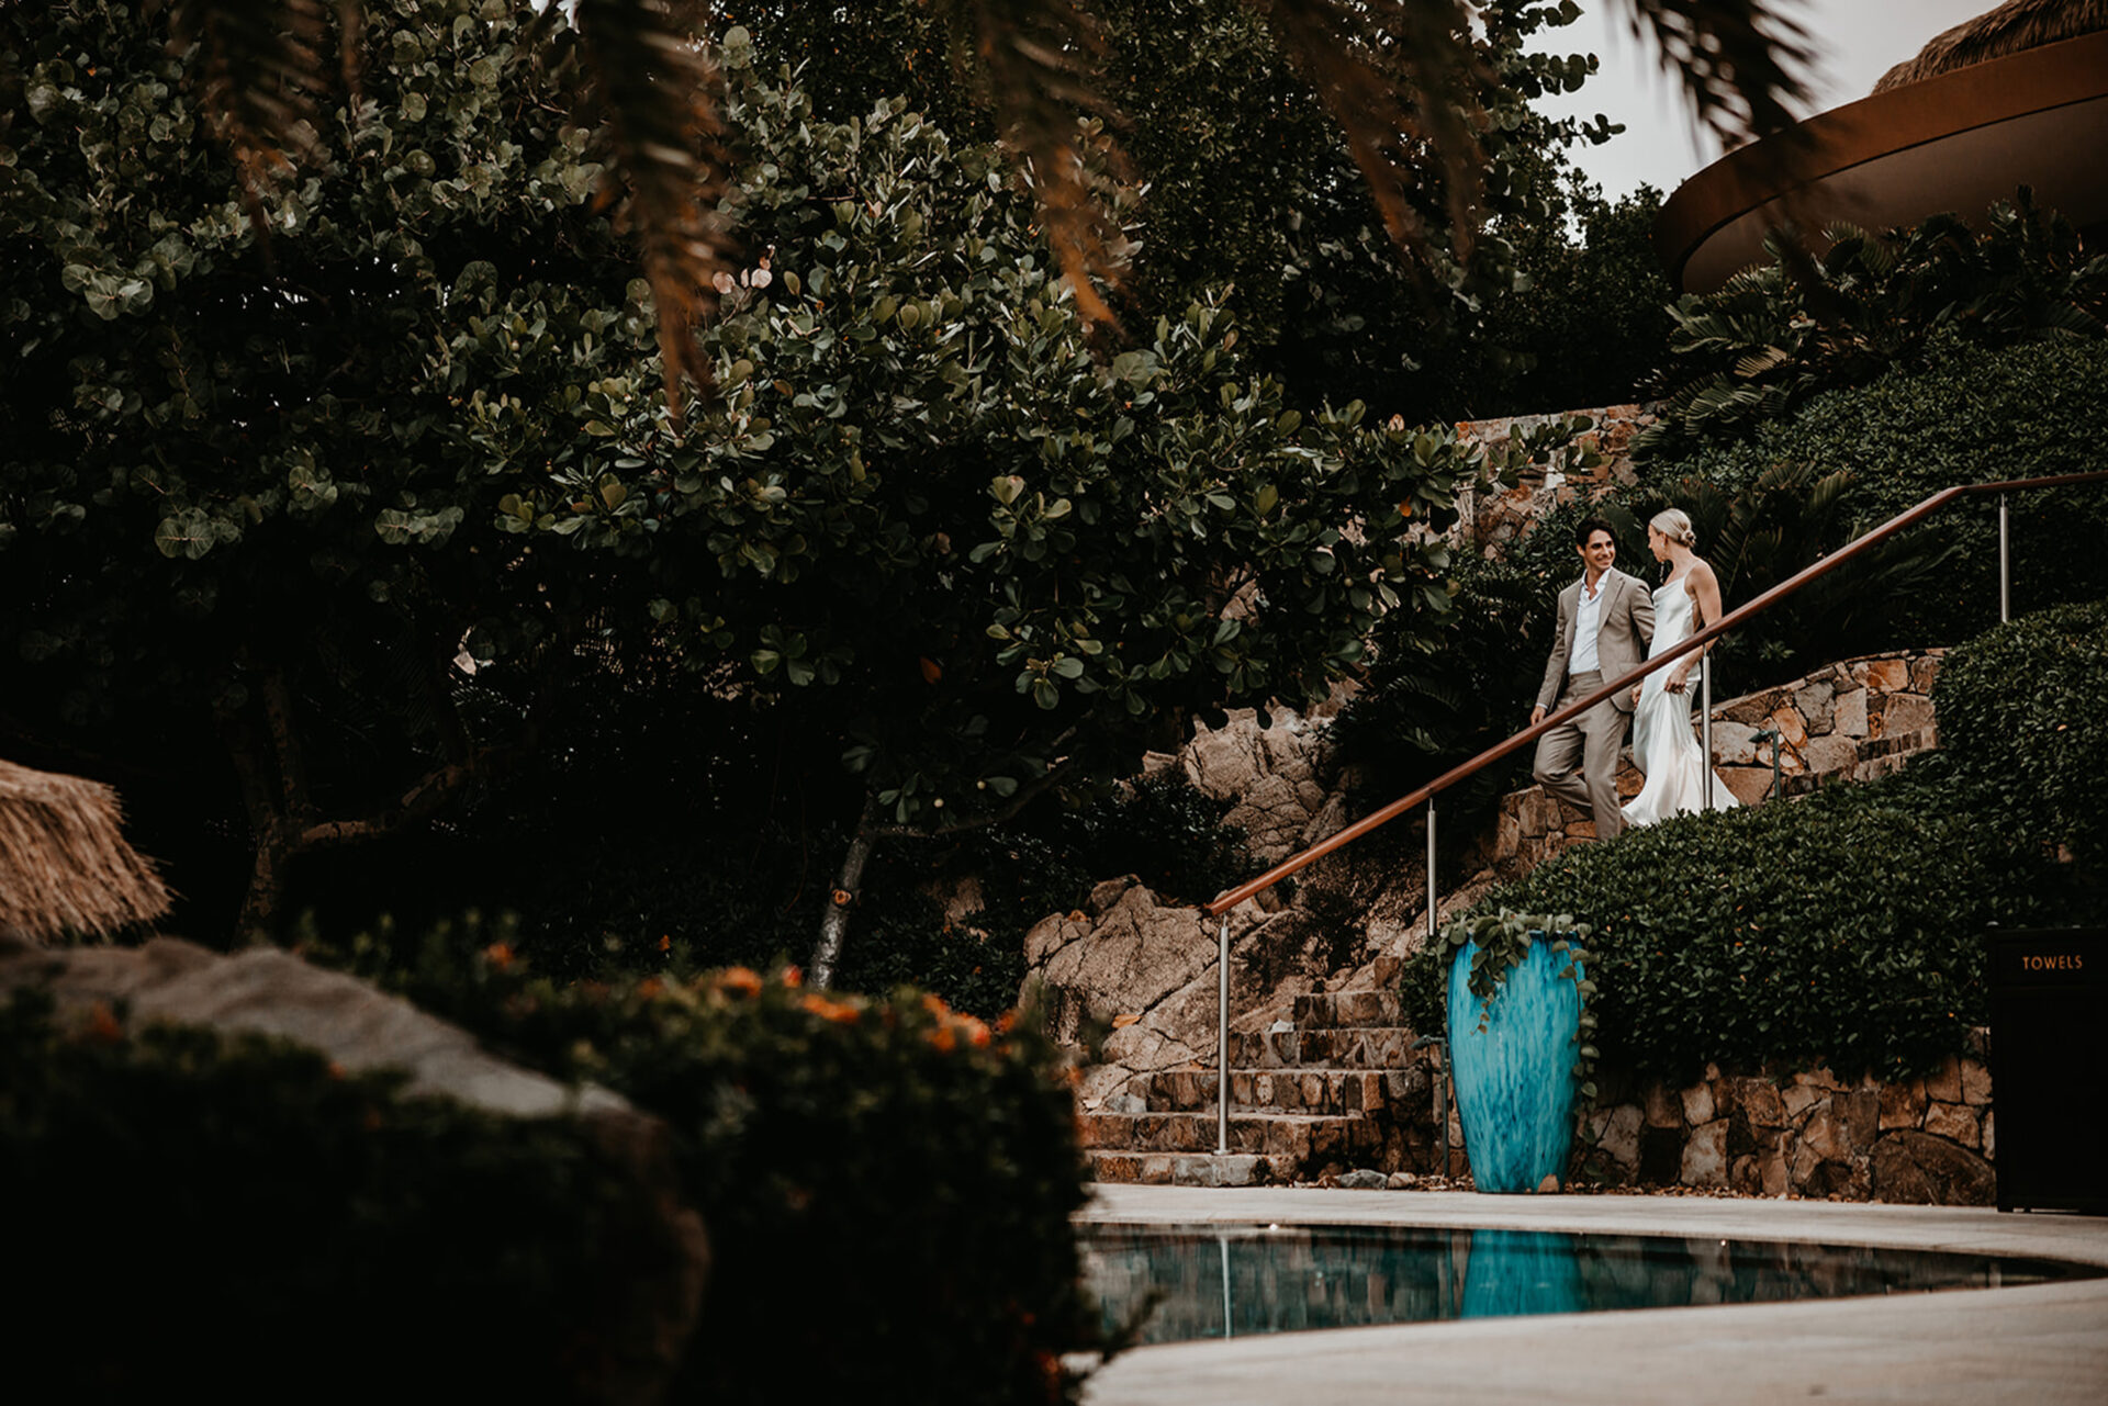
[[[1395,974],[1391,974],[1395,980]],[[1265,1185],[1349,1170],[1431,1170],[1436,1058],[1412,1048],[1393,991],[1301,995],[1286,1020],[1231,1031],[1229,1157],[1216,1157],[1216,1071],[1128,1079],[1084,1113],[1096,1180]]]

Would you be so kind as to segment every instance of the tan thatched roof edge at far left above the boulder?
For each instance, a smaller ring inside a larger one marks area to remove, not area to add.
[[[0,932],[101,936],[167,911],[169,887],[124,843],[116,790],[0,761]]]

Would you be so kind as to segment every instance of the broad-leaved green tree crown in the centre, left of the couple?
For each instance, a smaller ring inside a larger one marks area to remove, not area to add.
[[[1478,468],[1455,434],[1288,409],[1208,299],[1098,356],[991,150],[898,99],[828,124],[725,65],[776,257],[706,333],[721,398],[668,432],[588,388],[609,470],[497,506],[597,569],[649,559],[670,647],[797,700],[875,826],[1126,776],[1195,708],[1320,696],[1387,611],[1436,628],[1448,552],[1406,525],[1450,521]]]

